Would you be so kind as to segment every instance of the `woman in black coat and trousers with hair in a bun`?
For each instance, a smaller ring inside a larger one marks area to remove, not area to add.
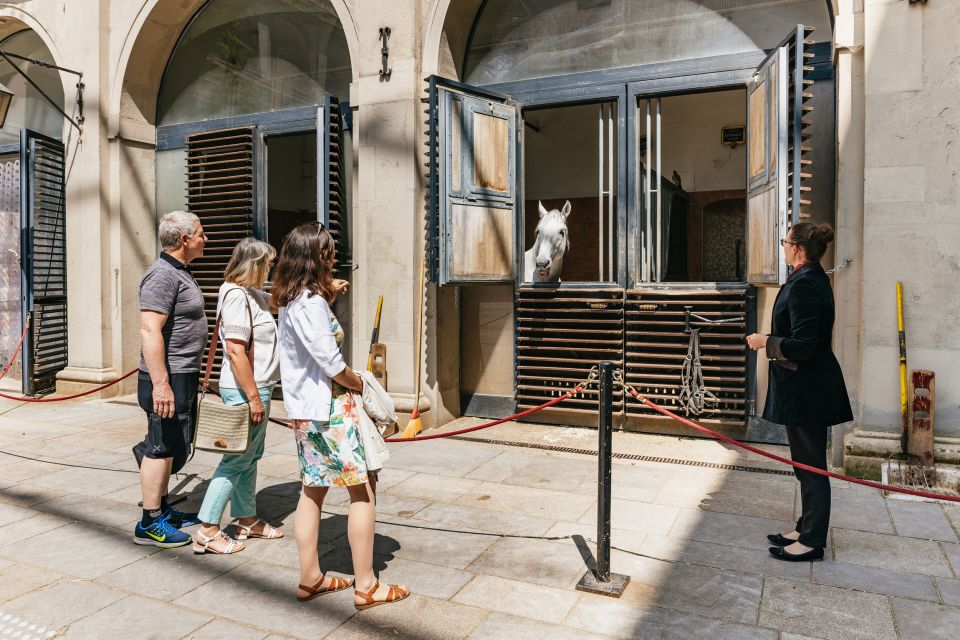
[[[786,425],[796,462],[827,468],[827,430],[853,420],[840,364],[830,348],[834,305],[820,258],[833,241],[828,224],[801,222],[781,242],[793,267],[773,304],[770,335],[754,333],[747,344],[770,358],[763,417]],[[796,529],[767,536],[770,553],[787,561],[820,560],[830,526],[830,479],[794,469],[800,481],[802,514]]]

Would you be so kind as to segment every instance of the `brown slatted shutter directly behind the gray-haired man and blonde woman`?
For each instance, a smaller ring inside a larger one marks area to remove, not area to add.
[[[254,234],[253,133],[252,127],[239,127],[187,137],[187,209],[207,234],[203,257],[190,266],[203,291],[209,330],[230,254],[240,239]],[[213,379],[219,378],[221,360],[216,354]]]

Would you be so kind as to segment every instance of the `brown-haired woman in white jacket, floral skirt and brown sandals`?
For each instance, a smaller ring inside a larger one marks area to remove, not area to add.
[[[297,599],[354,587],[354,605],[368,609],[403,600],[410,590],[381,584],[373,572],[376,476],[367,471],[353,392],[363,382],[343,361],[343,329],[330,305],[346,283],[333,279],[335,247],[322,224],[296,227],[283,240],[273,278],[280,308],[283,403],[293,420],[303,491],[294,533],[300,555]],[[355,581],[320,570],[317,538],[320,510],[330,487],[350,494],[347,539]]]

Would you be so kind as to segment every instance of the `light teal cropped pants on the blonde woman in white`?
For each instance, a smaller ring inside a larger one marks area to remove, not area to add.
[[[227,500],[230,500],[230,515],[234,518],[252,518],[257,515],[257,462],[263,457],[263,442],[267,435],[267,418],[270,417],[270,396],[273,387],[258,387],[260,400],[266,414],[263,422],[250,429],[250,447],[237,455],[225,455],[210,479],[210,486],[203,497],[199,518],[206,524],[220,524]],[[240,389],[220,389],[224,404],[238,405],[247,401]]]

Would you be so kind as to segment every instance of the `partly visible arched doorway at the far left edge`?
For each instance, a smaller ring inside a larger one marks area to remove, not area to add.
[[[55,61],[35,31],[8,35],[0,49],[14,56],[0,61],[0,83],[14,94],[0,128],[0,366],[30,318],[7,375],[33,395],[51,390],[67,364],[64,120],[43,95],[63,108],[64,91],[59,72],[38,64]]]

